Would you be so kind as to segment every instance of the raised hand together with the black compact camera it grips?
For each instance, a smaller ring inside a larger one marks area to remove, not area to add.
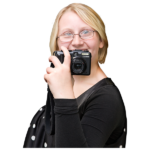
[[[50,67],[45,68],[43,80],[48,84],[54,98],[74,99],[72,75],[89,75],[91,70],[91,53],[88,51],[71,51],[61,47],[54,56],[48,56]]]

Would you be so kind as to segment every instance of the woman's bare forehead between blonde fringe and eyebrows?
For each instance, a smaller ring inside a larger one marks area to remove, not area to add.
[[[59,31],[63,31],[65,29],[78,30],[84,28],[92,29],[73,11],[65,12],[59,20]]]

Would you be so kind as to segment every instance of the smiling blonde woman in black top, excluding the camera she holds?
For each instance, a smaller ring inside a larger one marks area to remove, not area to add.
[[[35,113],[23,149],[126,147],[127,119],[123,98],[100,66],[106,62],[108,48],[105,23],[92,7],[73,2],[59,11],[49,41],[51,56],[48,62],[55,68],[46,67],[43,75],[48,84],[47,102],[51,100],[51,115],[46,111],[49,103]],[[68,50],[75,49],[91,53],[89,76],[71,76]],[[52,56],[54,51],[61,50],[63,64]],[[50,120],[49,124],[45,116]]]

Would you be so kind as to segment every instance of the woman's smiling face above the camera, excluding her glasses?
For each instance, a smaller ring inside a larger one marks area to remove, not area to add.
[[[83,29],[93,30],[89,25],[81,20],[81,18],[73,11],[65,12],[59,20],[58,36],[66,31],[71,31],[74,34],[79,34]],[[62,42],[57,39],[59,50],[61,46],[65,46],[68,50],[75,49],[88,49],[91,53],[91,66],[97,64],[98,50],[103,47],[103,42],[99,39],[99,34],[94,32],[93,38],[83,40],[79,35],[74,35],[74,38],[70,42]]]

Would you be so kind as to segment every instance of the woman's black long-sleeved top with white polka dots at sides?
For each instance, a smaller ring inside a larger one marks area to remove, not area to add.
[[[111,84],[112,85],[111,85]],[[23,149],[107,149],[126,147],[126,109],[110,77],[77,99],[53,99],[55,131],[45,129],[45,105],[33,115]],[[51,118],[52,116],[50,116]],[[51,126],[52,126],[51,124]]]

